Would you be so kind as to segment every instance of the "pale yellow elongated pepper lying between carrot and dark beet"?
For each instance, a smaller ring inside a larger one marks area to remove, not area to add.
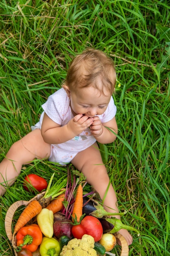
[[[51,210],[43,208],[37,215],[37,223],[44,236],[48,238],[53,236],[54,215]]]

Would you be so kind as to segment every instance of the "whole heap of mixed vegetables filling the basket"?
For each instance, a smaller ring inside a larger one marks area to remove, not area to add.
[[[119,229],[138,232],[106,212],[93,200],[93,191],[83,195],[82,174],[75,171],[71,177],[68,170],[67,178],[55,183],[53,177],[42,198],[31,201],[16,222],[13,245],[18,256],[35,251],[40,256],[102,256],[115,246],[113,234]]]

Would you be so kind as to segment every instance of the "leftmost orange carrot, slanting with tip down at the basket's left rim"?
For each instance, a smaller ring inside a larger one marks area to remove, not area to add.
[[[26,225],[29,220],[35,217],[42,210],[41,204],[37,200],[31,201],[23,210],[15,225],[13,236]]]

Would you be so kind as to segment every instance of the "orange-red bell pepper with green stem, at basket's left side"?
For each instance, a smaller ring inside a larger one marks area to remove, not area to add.
[[[36,224],[27,225],[18,231],[16,239],[17,246],[35,252],[42,242],[42,232]]]

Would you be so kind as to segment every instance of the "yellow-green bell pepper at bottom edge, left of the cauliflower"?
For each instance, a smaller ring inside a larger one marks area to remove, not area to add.
[[[58,256],[61,248],[59,242],[55,238],[43,237],[40,245],[41,256]]]

